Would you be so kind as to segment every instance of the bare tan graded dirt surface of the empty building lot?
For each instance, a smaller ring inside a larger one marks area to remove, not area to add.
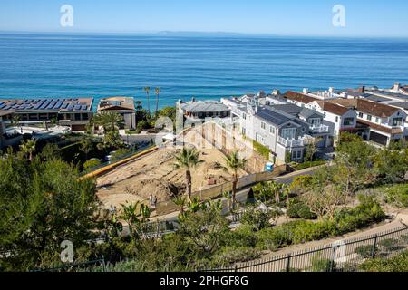
[[[210,180],[214,184],[221,184],[230,179],[230,174],[222,168],[225,155],[220,150],[206,140],[199,139],[195,131],[190,131],[185,140],[198,147],[199,159],[203,160],[191,172],[193,191],[211,187],[213,184],[209,184]],[[170,145],[98,178],[98,198],[107,208],[121,208],[121,204],[128,202],[147,201],[150,195],[156,196],[159,202],[184,193],[185,171],[174,169],[174,155],[181,148]],[[246,174],[243,170],[239,172],[240,177]]]

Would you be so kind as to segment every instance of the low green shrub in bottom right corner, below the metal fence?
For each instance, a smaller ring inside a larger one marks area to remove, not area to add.
[[[408,251],[391,258],[376,258],[365,261],[360,270],[364,272],[408,272]]]

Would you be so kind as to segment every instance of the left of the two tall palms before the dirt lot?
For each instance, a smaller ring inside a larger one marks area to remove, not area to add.
[[[174,158],[176,159],[174,168],[186,170],[186,192],[189,203],[191,203],[191,169],[197,168],[202,163],[202,160],[199,160],[199,151],[195,148],[183,148]]]

